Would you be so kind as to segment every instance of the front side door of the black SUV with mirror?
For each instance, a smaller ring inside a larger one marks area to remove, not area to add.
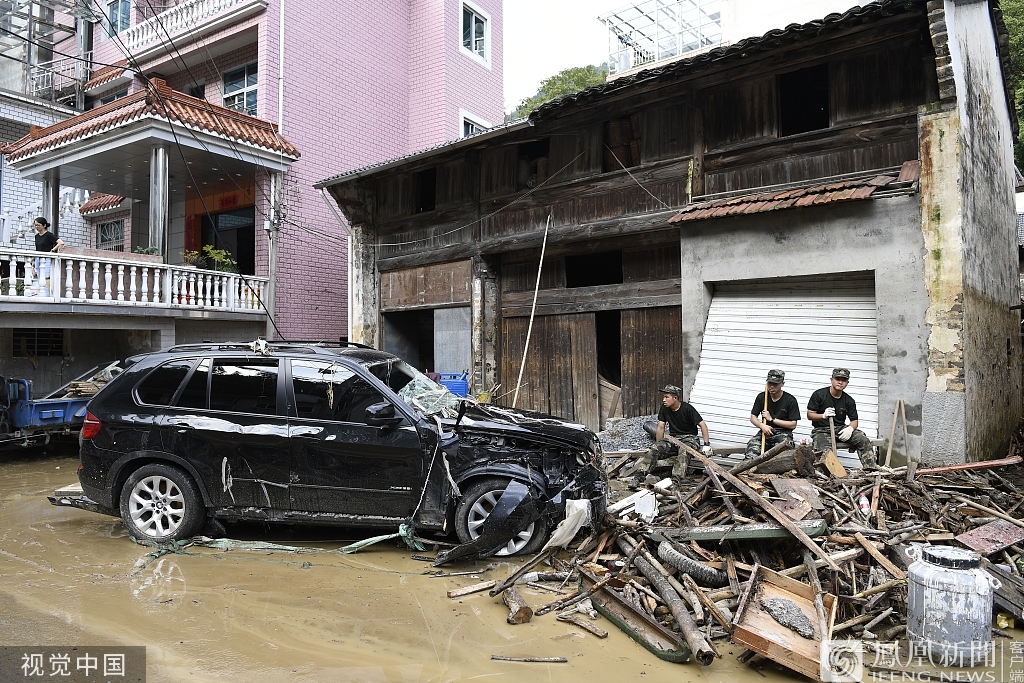
[[[391,402],[341,360],[292,359],[289,432],[292,508],[407,517],[419,500],[425,457],[416,426],[366,423],[370,405]]]

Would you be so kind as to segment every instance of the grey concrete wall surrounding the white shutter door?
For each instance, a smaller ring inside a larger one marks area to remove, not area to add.
[[[699,367],[714,283],[873,270],[878,306],[879,415],[906,402],[908,451],[945,421],[922,421],[928,378],[928,308],[921,210],[915,196],[700,221],[682,229],[684,392]],[[741,273],[741,276],[737,276]],[[825,385],[827,378],[822,380]],[[749,397],[737,397],[745,402]],[[801,409],[804,407],[802,405]]]

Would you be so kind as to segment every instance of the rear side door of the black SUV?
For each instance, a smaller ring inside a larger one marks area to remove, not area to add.
[[[223,507],[287,510],[290,445],[276,358],[204,358],[165,416],[172,453]]]

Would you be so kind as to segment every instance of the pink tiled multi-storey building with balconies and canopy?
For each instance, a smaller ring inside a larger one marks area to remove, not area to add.
[[[55,274],[0,291],[27,323],[74,328],[84,304],[160,347],[262,334],[265,304],[279,336],[346,337],[346,228],[313,182],[503,118],[501,0],[101,6],[84,111],[4,148],[44,208],[91,193],[84,237],[46,214],[71,247]]]

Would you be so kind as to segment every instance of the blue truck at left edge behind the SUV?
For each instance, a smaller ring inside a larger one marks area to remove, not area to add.
[[[82,428],[85,407],[120,369],[97,366],[43,398],[32,397],[29,380],[0,376],[0,451],[45,445],[52,436]]]

